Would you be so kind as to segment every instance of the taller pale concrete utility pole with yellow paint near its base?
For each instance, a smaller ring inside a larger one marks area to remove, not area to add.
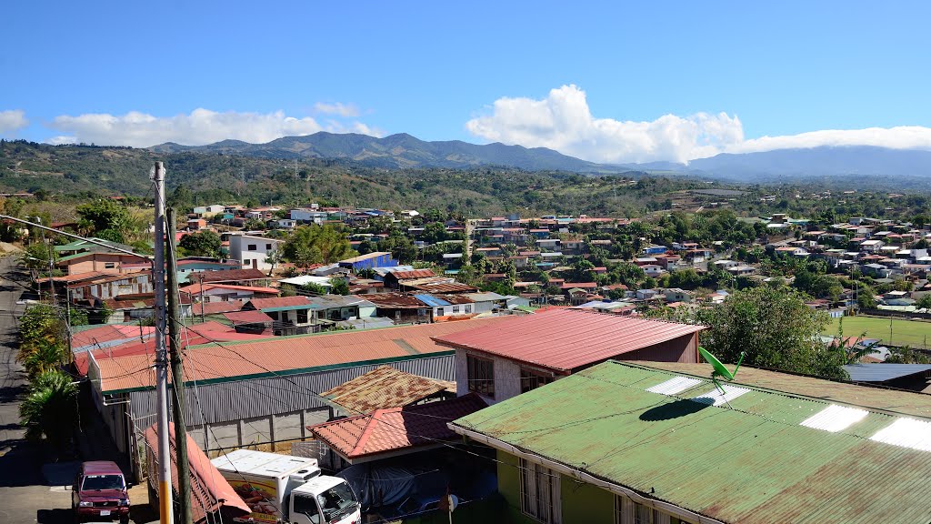
[[[158,432],[158,516],[160,524],[172,524],[171,449],[169,446],[168,358],[165,349],[165,167],[155,162],[155,261],[152,281],[155,285],[155,385]]]

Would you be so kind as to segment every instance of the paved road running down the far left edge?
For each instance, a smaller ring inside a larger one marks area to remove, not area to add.
[[[16,302],[26,283],[15,256],[0,258],[0,522],[70,522],[71,493],[53,484],[67,483],[74,465],[43,467],[46,454],[23,440],[19,423],[26,379],[15,360],[16,317],[24,309]]]

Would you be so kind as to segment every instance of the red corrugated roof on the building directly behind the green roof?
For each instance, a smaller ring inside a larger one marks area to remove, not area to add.
[[[507,317],[501,323],[434,340],[453,348],[570,371],[703,329],[703,325],[635,319],[587,310],[546,310]]]

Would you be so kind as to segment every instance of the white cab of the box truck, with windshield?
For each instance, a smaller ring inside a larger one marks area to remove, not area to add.
[[[359,524],[362,521],[352,488],[335,476],[317,476],[291,490],[289,520],[293,524]]]

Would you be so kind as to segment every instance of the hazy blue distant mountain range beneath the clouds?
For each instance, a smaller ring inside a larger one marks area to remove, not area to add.
[[[376,138],[356,133],[317,132],[287,136],[267,144],[224,140],[210,145],[166,143],[155,153],[196,152],[265,159],[343,159],[384,169],[507,166],[528,171],[592,174],[613,172],[673,172],[739,182],[772,182],[823,176],[895,176],[931,179],[931,151],[866,145],[778,149],[760,153],[722,153],[688,164],[650,162],[599,164],[563,155],[546,147],[469,144],[458,140],[425,142],[407,133]]]

